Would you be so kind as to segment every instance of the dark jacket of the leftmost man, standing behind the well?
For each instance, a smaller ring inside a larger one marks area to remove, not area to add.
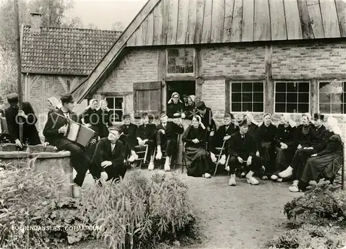
[[[39,135],[35,126],[37,123],[37,117],[30,103],[23,102],[22,110],[26,115],[28,115],[28,120],[23,119],[23,138],[24,143],[27,141],[30,145],[40,144]],[[12,143],[16,139],[19,139],[19,123],[16,121],[18,108],[13,108],[12,106],[6,109],[6,123],[8,126],[8,132],[10,133],[10,138]]]

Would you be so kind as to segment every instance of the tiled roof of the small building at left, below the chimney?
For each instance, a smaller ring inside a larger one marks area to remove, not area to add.
[[[21,72],[88,75],[121,32],[79,28],[24,26]]]

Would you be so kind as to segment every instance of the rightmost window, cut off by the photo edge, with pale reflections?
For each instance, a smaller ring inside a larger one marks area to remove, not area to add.
[[[321,81],[318,89],[321,113],[346,113],[346,81]]]

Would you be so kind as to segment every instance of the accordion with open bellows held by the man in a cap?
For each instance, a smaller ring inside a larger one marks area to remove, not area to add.
[[[69,122],[65,137],[83,147],[87,147],[95,135],[96,132],[91,128],[83,126],[80,123]]]

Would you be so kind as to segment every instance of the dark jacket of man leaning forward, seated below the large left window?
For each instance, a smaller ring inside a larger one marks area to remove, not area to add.
[[[229,139],[228,155],[230,155],[230,157],[242,157],[244,160],[249,156],[255,156],[253,137],[246,133],[244,141],[242,141],[242,135],[240,135],[240,132],[235,132]]]

